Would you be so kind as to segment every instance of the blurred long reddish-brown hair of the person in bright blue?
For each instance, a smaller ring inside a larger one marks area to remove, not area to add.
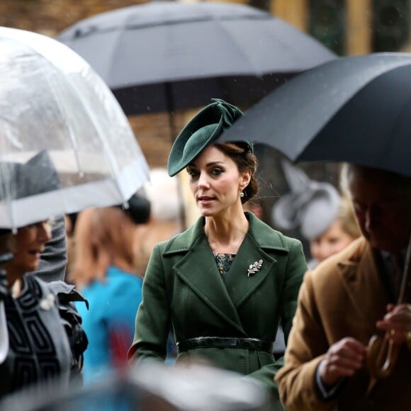
[[[81,287],[104,281],[108,266],[134,271],[135,224],[118,207],[89,208],[79,213],[74,230],[74,264],[69,281]]]

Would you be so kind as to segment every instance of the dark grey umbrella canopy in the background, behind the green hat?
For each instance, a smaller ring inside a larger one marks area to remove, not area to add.
[[[241,4],[130,6],[79,21],[58,40],[96,69],[130,114],[203,106],[213,97],[251,104],[335,57],[270,13]]]

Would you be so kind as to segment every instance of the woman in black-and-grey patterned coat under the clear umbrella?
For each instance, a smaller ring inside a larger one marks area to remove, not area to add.
[[[87,339],[71,302],[84,299],[63,281],[25,275],[38,268],[51,228],[47,220],[0,230],[0,398],[57,378],[67,388],[80,373]]]

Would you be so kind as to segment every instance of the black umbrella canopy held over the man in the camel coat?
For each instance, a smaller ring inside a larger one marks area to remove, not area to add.
[[[220,141],[249,140],[293,162],[351,162],[411,176],[411,55],[341,57],[300,74]]]

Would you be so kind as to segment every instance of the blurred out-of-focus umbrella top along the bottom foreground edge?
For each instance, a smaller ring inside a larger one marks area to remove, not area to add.
[[[16,393],[1,410],[78,411],[268,411],[266,389],[239,374],[191,363],[142,364],[129,373],[112,373],[83,389],[62,393],[50,385]]]

